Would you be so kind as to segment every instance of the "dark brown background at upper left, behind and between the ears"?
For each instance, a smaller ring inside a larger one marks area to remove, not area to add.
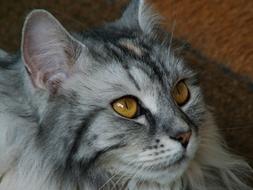
[[[74,31],[116,18],[127,0],[0,0],[0,48],[15,52],[20,46],[25,16],[33,9],[46,9],[64,27]]]

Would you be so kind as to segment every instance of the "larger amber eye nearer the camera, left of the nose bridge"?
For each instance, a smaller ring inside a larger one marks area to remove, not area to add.
[[[129,119],[134,118],[138,112],[137,100],[131,96],[124,96],[115,100],[112,107],[116,113]]]

